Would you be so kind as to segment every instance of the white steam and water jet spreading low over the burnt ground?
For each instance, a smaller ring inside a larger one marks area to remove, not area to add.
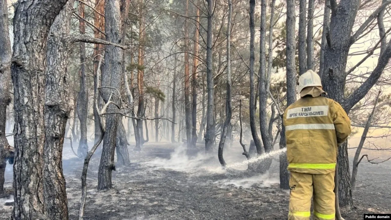
[[[227,167],[235,170],[246,170],[249,162],[256,162],[266,158],[275,157],[285,152],[285,149],[271,151],[264,155],[247,160],[239,146],[227,146],[224,149],[224,160],[227,162]],[[155,158],[144,162],[153,169],[167,169],[186,172],[191,175],[207,175],[207,174],[224,174],[226,170],[222,169],[217,158],[217,152],[213,156],[206,156],[203,149],[194,156],[188,156],[187,147],[182,145],[175,146],[174,152],[170,154],[169,159]],[[221,179],[222,178],[222,179]],[[217,179],[217,180],[216,180]],[[273,184],[279,183],[277,175],[273,176],[269,173],[263,175],[255,175],[252,177],[232,178],[230,175],[216,175],[211,183],[217,184],[219,187],[270,187]]]

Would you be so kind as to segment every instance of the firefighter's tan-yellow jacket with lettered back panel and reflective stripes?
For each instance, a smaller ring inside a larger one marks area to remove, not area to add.
[[[284,113],[288,170],[326,174],[335,170],[337,146],[352,128],[344,109],[332,99],[306,96]]]

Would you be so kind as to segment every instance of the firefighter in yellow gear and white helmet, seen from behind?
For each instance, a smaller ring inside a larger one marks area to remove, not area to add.
[[[344,109],[323,97],[321,79],[308,70],[299,78],[300,99],[284,113],[290,199],[288,220],[335,220],[334,174],[337,147],[352,129]]]

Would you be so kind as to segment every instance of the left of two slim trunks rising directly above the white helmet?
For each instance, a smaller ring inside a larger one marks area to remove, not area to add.
[[[299,10],[299,75],[307,71],[307,52],[305,45],[305,27],[307,24],[307,1],[300,0]]]

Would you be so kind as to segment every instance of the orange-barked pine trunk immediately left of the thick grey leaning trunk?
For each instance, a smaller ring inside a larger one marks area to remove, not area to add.
[[[104,31],[104,17],[101,14],[104,14],[104,3],[105,3],[105,0],[95,0],[95,10],[96,11],[94,11],[94,24],[97,28],[99,28],[102,31]],[[104,34],[99,32],[97,29],[94,29],[94,36],[95,36],[95,38],[99,38],[102,40],[105,39]],[[95,94],[97,92],[99,92],[98,86],[97,86],[97,81],[99,81],[100,79],[97,79],[97,71],[98,71],[100,57],[103,56],[103,54],[104,54],[104,45],[95,44],[95,49],[93,52],[93,56],[94,56],[94,97],[95,97]],[[102,106],[101,102],[102,102],[102,98],[99,95],[98,96],[98,107],[99,108]],[[93,113],[94,113],[94,125],[95,125],[94,143],[96,143],[99,140],[100,136],[102,136],[101,135],[102,131],[100,130],[99,115],[98,115],[96,108],[93,108]]]

